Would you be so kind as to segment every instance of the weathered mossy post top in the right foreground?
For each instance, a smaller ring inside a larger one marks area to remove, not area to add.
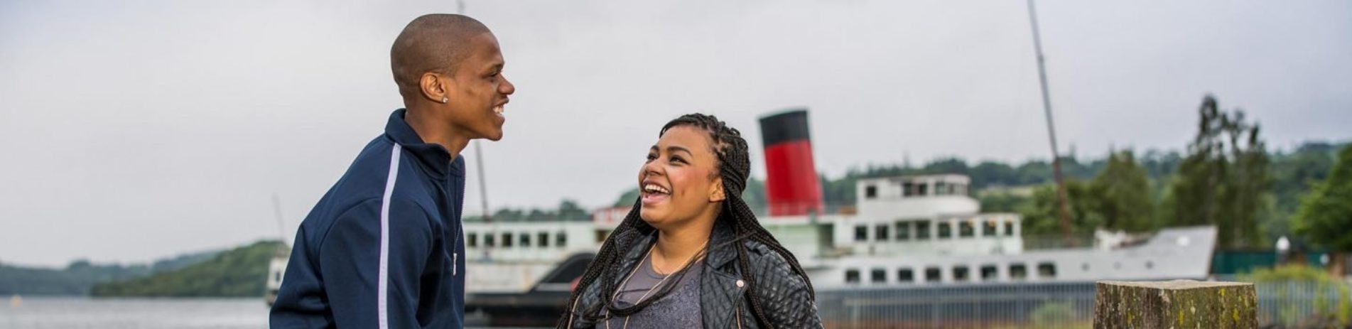
[[[1094,328],[1257,328],[1257,294],[1237,282],[1098,282]]]

